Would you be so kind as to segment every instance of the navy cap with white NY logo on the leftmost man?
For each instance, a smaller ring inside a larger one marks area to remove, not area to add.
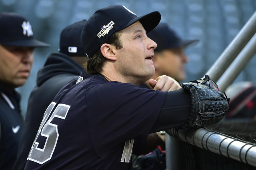
[[[0,13],[0,44],[18,47],[49,47],[49,44],[34,39],[28,20],[9,12]]]

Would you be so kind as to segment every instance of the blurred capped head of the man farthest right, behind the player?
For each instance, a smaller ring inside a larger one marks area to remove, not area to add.
[[[157,44],[152,59],[156,71],[151,78],[156,79],[166,75],[178,81],[185,80],[185,64],[188,62],[188,57],[184,49],[198,40],[181,39],[167,23],[159,23],[155,29],[148,33],[148,37]]]

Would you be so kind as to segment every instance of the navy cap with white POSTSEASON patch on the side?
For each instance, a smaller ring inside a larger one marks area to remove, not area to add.
[[[102,44],[116,31],[120,31],[136,21],[150,32],[160,22],[159,12],[151,12],[137,17],[122,5],[113,5],[97,10],[86,22],[81,35],[81,42],[88,58],[92,58]]]

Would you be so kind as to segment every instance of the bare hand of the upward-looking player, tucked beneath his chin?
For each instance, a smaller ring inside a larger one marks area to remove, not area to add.
[[[163,92],[178,90],[182,88],[176,80],[165,75],[159,76],[158,78],[156,78],[156,80],[150,79],[148,83],[154,90],[159,90]]]

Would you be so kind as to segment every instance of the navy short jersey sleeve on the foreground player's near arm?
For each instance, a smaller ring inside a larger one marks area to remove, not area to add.
[[[167,92],[107,82],[86,92],[86,115],[96,153],[103,157],[129,139],[147,137]],[[94,106],[94,107],[87,107]]]

